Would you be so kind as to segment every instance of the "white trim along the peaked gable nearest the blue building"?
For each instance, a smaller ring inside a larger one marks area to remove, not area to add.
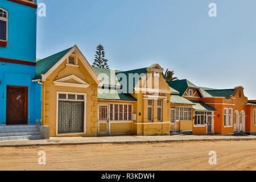
[[[90,66],[84,55],[82,55],[80,49],[75,45],[73,48],[71,48],[51,69],[49,69],[44,75],[42,76],[42,81],[46,81],[47,77],[51,75],[57,67],[59,67],[65,60],[68,59],[68,56],[70,56],[74,51],[77,51],[78,55],[81,58],[81,62],[84,65],[84,67],[87,69],[87,71],[90,73],[90,75],[93,77],[93,80],[96,81],[97,85],[100,83],[100,80],[98,80],[98,76],[96,72],[94,72],[93,68]]]

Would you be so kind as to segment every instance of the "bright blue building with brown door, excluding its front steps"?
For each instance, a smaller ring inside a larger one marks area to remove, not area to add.
[[[40,124],[36,11],[36,0],[0,0],[0,125]]]

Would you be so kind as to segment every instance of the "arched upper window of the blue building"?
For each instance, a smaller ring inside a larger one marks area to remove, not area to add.
[[[0,41],[7,41],[8,13],[0,8]]]

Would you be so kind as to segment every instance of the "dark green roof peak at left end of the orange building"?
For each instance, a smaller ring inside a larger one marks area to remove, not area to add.
[[[192,82],[188,81],[187,79],[184,80],[175,80],[175,81],[167,81],[167,84],[174,88],[175,90],[180,92],[180,96],[183,96],[184,92],[188,88],[195,88],[199,89],[196,85],[192,84]]]

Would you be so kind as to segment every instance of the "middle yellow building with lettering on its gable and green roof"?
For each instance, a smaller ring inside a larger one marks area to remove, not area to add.
[[[158,64],[121,72],[94,68],[98,134],[170,135],[171,90]]]

